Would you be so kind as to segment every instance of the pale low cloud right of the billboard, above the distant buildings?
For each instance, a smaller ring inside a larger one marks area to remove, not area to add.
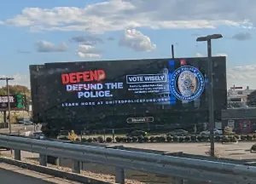
[[[233,86],[250,86],[250,89],[256,89],[256,65],[235,66],[227,69],[228,88]]]

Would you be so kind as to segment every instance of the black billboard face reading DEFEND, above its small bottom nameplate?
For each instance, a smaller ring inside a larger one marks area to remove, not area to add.
[[[226,108],[225,57],[212,57],[214,106]],[[207,111],[207,58],[111,60],[30,66],[38,121],[76,122]],[[72,120],[71,120],[72,121]]]

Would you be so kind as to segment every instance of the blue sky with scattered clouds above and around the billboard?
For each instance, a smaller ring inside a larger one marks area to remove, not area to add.
[[[206,43],[195,38],[221,33],[224,38],[212,42],[212,54],[227,55],[228,84],[256,89],[256,2],[226,0],[220,9],[218,1],[5,1],[0,75],[29,85],[32,64],[166,58],[171,44],[176,57],[207,55]]]

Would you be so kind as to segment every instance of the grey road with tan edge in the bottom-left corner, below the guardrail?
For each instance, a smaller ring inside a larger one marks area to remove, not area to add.
[[[0,164],[0,178],[1,184],[80,184],[3,163]]]

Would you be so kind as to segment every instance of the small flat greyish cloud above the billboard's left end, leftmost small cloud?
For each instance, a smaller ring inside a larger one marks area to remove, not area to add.
[[[41,40],[36,44],[38,52],[66,52],[68,47],[66,43],[55,45],[47,41]]]

